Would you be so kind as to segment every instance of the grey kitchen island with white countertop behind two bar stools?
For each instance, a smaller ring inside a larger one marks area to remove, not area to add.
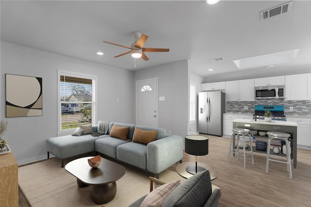
[[[259,131],[281,131],[291,134],[290,142],[292,148],[291,159],[293,159],[294,168],[297,165],[297,127],[295,122],[271,121],[263,120],[255,121],[253,119],[234,119],[233,128],[247,128]],[[268,137],[266,137],[268,139]],[[233,139],[233,149],[235,147],[235,139]]]

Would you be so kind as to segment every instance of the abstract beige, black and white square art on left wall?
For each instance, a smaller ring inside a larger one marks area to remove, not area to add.
[[[6,117],[42,116],[42,78],[5,74]]]

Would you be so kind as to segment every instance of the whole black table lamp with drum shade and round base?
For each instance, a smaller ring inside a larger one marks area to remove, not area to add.
[[[195,166],[189,166],[186,171],[190,174],[197,174],[205,171],[204,167],[198,166],[197,156],[208,154],[208,138],[202,135],[187,135],[185,137],[185,152],[190,155],[195,155]]]

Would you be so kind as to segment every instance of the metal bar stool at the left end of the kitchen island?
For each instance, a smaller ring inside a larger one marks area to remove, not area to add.
[[[245,169],[246,168],[246,156],[247,155],[251,155],[252,156],[252,165],[254,165],[252,138],[251,138],[251,135],[249,134],[249,129],[245,129],[245,128],[233,128],[232,129],[231,140],[230,140],[230,147],[229,147],[228,163],[230,163],[231,152],[232,152],[232,154],[236,154],[237,155],[236,159],[239,159],[239,154],[240,154],[239,151],[242,150],[242,149],[239,148],[240,135],[243,137],[243,154],[242,155],[243,155],[243,158],[244,158],[244,169]],[[237,147],[234,146],[235,148],[231,149],[233,139],[235,139],[236,136],[237,136],[237,141],[238,141]],[[245,136],[249,137],[249,146],[248,146],[248,147],[250,147],[249,153],[246,153],[246,150],[245,150]]]

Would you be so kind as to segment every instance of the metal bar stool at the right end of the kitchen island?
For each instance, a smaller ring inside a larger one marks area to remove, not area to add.
[[[290,143],[288,138],[291,137],[289,133],[279,132],[279,131],[268,131],[267,132],[269,139],[268,139],[268,146],[267,146],[267,161],[266,161],[266,173],[269,170],[269,160],[275,162],[282,162],[287,164],[287,171],[289,171],[290,178],[292,178],[292,163],[291,163],[291,149]],[[287,161],[280,161],[276,159],[270,159],[270,143],[272,139],[279,139],[285,141],[286,144],[286,160]]]

